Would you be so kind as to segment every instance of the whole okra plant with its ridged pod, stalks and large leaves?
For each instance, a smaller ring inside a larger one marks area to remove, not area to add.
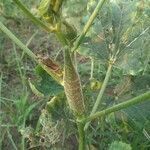
[[[36,15],[33,15],[21,0],[13,2],[35,25],[56,36],[61,43],[64,58],[63,61],[57,62],[49,56],[34,54],[0,22],[0,29],[37,63],[36,71],[42,80],[40,83],[29,80],[32,91],[38,96],[48,95],[51,98],[39,117],[36,131],[32,132],[32,137],[31,134],[27,136],[31,147],[44,145],[62,148],[63,142],[61,143],[60,139],[67,142],[63,136],[68,134],[69,131],[66,130],[70,123],[70,126],[78,130],[78,149],[90,149],[91,143],[89,144],[87,137],[93,120],[101,124],[101,118],[150,100],[147,87],[145,93],[139,92],[134,98],[120,103],[112,100],[111,105],[103,105],[107,85],[115,69],[123,70],[124,74],[130,76],[141,72],[144,74],[149,69],[148,1],[41,0]],[[90,82],[90,93],[97,95],[91,110],[88,110],[88,105],[91,105],[92,97],[86,96],[87,85],[81,83],[82,78],[78,70],[82,64],[79,64],[78,57],[85,57],[91,62],[91,74],[86,80]],[[94,78],[95,63],[107,67],[102,82]],[[128,83],[124,84],[116,88],[118,97],[128,88]]]

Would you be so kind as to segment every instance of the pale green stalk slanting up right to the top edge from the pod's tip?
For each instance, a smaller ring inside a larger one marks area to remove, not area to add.
[[[83,38],[85,37],[86,33],[88,32],[89,28],[91,27],[91,25],[93,24],[96,16],[98,15],[99,11],[102,9],[103,4],[106,2],[107,0],[99,0],[96,8],[94,9],[93,13],[91,14],[88,22],[86,23],[86,25],[83,28],[83,31],[81,33],[81,35],[79,36],[79,38],[77,38],[77,40],[74,43],[74,47],[71,49],[71,51],[75,51],[79,45],[81,44]]]

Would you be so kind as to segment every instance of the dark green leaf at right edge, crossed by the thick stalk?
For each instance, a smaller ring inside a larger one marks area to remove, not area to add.
[[[120,95],[118,101],[125,99],[125,96],[131,97],[139,95],[139,93],[150,90],[150,75],[132,77],[132,87],[130,92],[126,95]],[[150,125],[150,102],[144,102],[131,106],[123,110],[123,116],[120,116],[120,112],[116,113],[116,117],[119,120],[126,120],[128,125],[133,129],[143,130],[143,128],[149,128]]]

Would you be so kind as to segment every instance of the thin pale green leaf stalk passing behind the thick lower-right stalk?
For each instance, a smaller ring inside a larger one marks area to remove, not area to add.
[[[109,66],[108,66],[108,69],[107,69],[107,72],[106,72],[106,76],[105,76],[105,79],[104,79],[104,82],[102,84],[102,87],[100,89],[100,92],[97,96],[97,99],[96,99],[96,102],[92,108],[92,111],[90,113],[90,115],[94,114],[98,108],[98,106],[101,104],[102,102],[102,97],[103,97],[103,94],[104,94],[104,91],[106,89],[106,86],[107,86],[107,83],[108,83],[108,80],[110,78],[110,75],[111,75],[111,71],[112,71],[112,66],[113,64],[112,63],[109,63]],[[87,130],[88,126],[89,126],[90,122],[87,122],[85,127],[84,127],[84,130]]]

